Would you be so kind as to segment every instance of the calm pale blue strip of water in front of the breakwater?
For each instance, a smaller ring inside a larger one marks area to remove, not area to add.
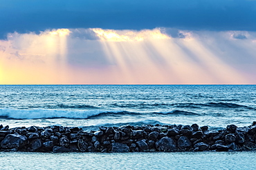
[[[256,169],[256,152],[2,152],[0,169]]]

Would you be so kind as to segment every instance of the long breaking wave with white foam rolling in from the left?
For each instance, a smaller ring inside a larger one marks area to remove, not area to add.
[[[190,111],[173,110],[162,112],[132,112],[123,110],[60,110],[60,109],[0,109],[0,117],[8,119],[71,118],[87,119],[104,116],[138,116],[138,115],[199,115]]]

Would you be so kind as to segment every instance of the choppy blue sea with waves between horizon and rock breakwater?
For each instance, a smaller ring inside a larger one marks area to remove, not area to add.
[[[248,126],[256,85],[0,85],[0,124]]]

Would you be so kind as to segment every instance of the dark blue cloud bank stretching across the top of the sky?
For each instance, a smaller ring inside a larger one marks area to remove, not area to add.
[[[256,31],[256,1],[249,0],[0,1],[0,38],[53,28]]]

